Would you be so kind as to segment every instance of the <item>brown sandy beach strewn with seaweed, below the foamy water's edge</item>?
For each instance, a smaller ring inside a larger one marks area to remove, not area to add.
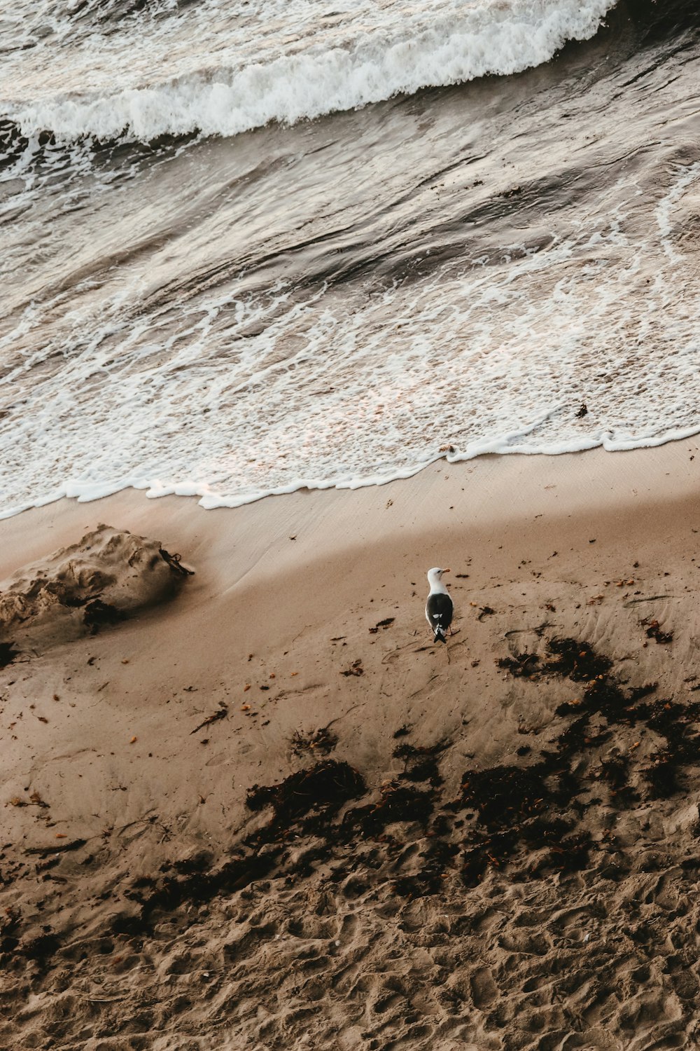
[[[679,441],[0,522],[0,1046],[700,1047],[699,494]]]

